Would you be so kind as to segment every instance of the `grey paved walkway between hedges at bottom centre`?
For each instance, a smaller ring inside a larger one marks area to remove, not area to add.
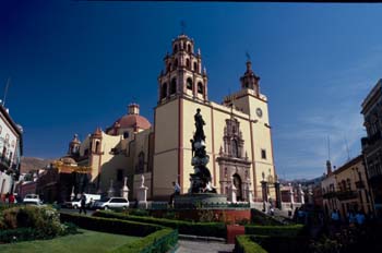
[[[179,240],[176,253],[228,253],[232,252],[235,244],[208,241]]]

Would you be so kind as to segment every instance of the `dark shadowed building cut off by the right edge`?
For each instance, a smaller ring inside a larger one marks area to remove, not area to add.
[[[369,184],[374,200],[374,210],[382,218],[382,80],[362,103],[367,137],[361,140]]]

